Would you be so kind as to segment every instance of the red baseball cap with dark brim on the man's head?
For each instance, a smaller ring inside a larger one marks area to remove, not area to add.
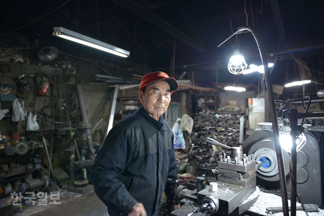
[[[177,89],[179,89],[179,84],[174,77],[170,77],[165,72],[156,71],[153,73],[147,73],[143,76],[143,78],[140,82],[140,87],[139,87],[138,91],[139,92],[142,91],[144,89],[144,87],[146,87],[147,85],[152,84],[159,80],[164,80],[169,83],[171,94],[173,93],[173,91],[176,91]]]

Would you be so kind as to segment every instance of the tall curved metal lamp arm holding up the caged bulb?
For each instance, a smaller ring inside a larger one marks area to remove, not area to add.
[[[223,42],[221,42],[220,45],[217,47],[220,47],[224,42],[226,42],[228,39],[230,39],[235,34],[242,32],[242,31],[250,31],[257,43],[261,61],[264,67],[264,76],[265,76],[265,83],[268,90],[268,97],[269,97],[269,103],[270,103],[270,112],[271,112],[271,119],[272,119],[272,128],[273,128],[273,135],[274,135],[274,143],[275,143],[275,150],[277,155],[277,161],[278,161],[278,169],[279,169],[279,182],[280,182],[280,191],[281,191],[281,198],[282,198],[282,209],[284,212],[284,215],[289,215],[289,208],[288,208],[288,196],[287,196],[287,186],[286,186],[286,177],[285,177],[285,168],[284,168],[284,160],[282,159],[282,150],[279,143],[279,129],[278,129],[278,121],[277,121],[277,115],[275,111],[275,105],[274,105],[274,98],[273,98],[273,90],[272,90],[272,82],[271,82],[271,76],[270,71],[268,67],[268,60],[266,56],[266,52],[264,50],[264,46],[262,46],[262,42],[258,39],[258,34],[256,33],[255,29],[251,29],[249,27],[241,27],[238,28],[236,32],[234,32],[231,36],[229,36],[227,39],[225,39]]]

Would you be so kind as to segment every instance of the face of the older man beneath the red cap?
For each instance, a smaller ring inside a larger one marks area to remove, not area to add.
[[[170,85],[164,80],[159,80],[147,85],[145,94],[138,93],[138,98],[150,116],[158,120],[165,113],[171,101]]]

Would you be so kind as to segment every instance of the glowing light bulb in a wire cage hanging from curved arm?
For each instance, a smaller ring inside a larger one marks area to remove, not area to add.
[[[234,44],[233,49],[233,55],[228,62],[227,69],[230,73],[238,75],[247,69],[248,64],[245,61],[241,51],[239,50],[238,42]]]

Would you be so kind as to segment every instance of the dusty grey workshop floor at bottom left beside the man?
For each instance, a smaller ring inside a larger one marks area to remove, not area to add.
[[[83,195],[63,198],[61,204],[48,206],[29,206],[20,212],[14,212],[12,206],[1,209],[0,215],[9,216],[104,216],[107,215],[106,206],[100,201],[94,191]]]

